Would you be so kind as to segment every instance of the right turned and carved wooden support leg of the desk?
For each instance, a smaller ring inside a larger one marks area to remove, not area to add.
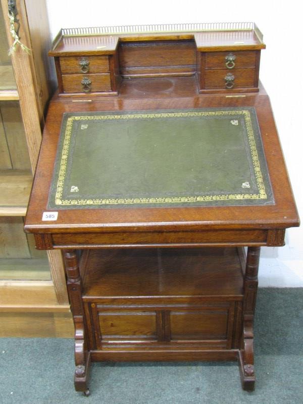
[[[260,247],[248,247],[244,276],[243,330],[239,350],[239,370],[243,390],[255,388],[254,315],[258,290]]]

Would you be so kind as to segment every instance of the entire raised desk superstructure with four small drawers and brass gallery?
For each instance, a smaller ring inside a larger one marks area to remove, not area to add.
[[[118,94],[121,77],[183,76],[197,77],[199,93],[232,93],[258,91],[263,48],[254,23],[135,25],[62,29],[49,56],[60,95]]]

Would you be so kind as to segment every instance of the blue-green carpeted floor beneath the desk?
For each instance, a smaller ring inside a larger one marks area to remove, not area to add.
[[[73,386],[71,339],[0,339],[1,404],[303,403],[303,288],[260,289],[256,390],[241,390],[236,363],[92,364],[85,397]]]

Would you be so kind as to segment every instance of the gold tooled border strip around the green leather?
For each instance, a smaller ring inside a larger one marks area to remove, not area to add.
[[[114,119],[144,119],[144,118],[175,118],[175,117],[197,117],[197,116],[224,116],[243,115],[246,129],[252,164],[254,165],[259,193],[252,194],[223,194],[223,195],[199,195],[180,197],[153,197],[153,198],[106,198],[106,199],[62,199],[64,180],[67,170],[68,150],[72,134],[73,121],[81,120],[114,120]],[[125,115],[90,115],[71,116],[67,119],[65,137],[63,142],[62,157],[60,162],[59,178],[57,182],[55,204],[56,205],[132,205],[132,204],[163,204],[163,203],[194,203],[214,200],[239,200],[239,199],[266,199],[267,194],[263,182],[263,176],[258,157],[254,131],[250,120],[250,113],[247,110],[235,111],[200,111],[200,112],[169,112],[169,113],[148,113],[148,114],[125,114]]]

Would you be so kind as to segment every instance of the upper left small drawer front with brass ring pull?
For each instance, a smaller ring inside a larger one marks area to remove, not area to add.
[[[108,56],[62,57],[60,69],[62,74],[108,73],[109,58]]]

